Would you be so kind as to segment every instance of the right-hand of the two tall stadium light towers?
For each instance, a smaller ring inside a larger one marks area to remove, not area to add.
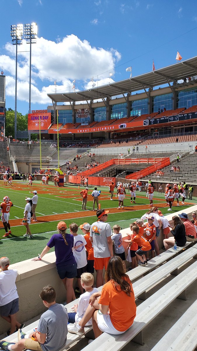
[[[29,113],[31,113],[31,75],[32,75],[32,44],[36,43],[38,33],[38,26],[35,22],[32,24],[24,25],[24,39],[26,39],[26,43],[30,44],[30,53],[29,53]],[[29,140],[31,134],[29,133]]]

